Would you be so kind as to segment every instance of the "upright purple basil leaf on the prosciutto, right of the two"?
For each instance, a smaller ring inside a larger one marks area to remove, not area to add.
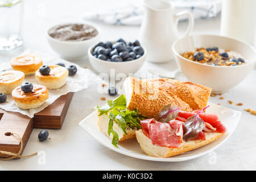
[[[205,127],[205,123],[203,119],[199,117],[199,114],[192,115],[187,119],[184,125],[184,135],[183,139],[193,139],[196,138],[200,131],[202,131]]]

